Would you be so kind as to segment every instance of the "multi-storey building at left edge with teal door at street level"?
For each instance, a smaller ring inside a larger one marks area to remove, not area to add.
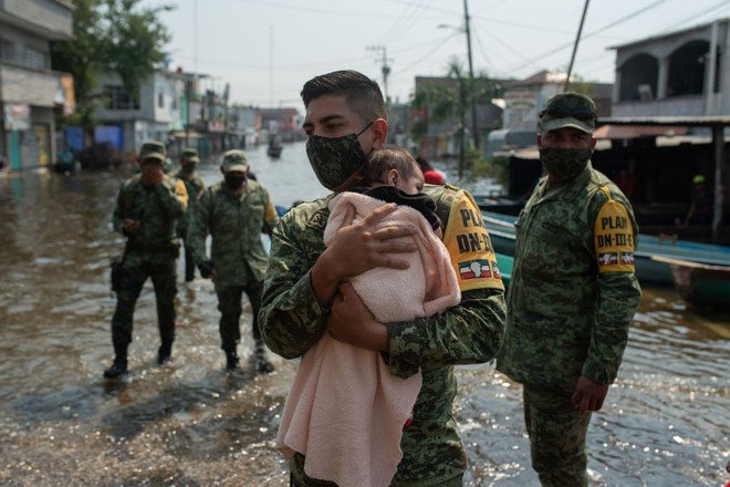
[[[0,1],[0,157],[11,169],[56,159],[54,108],[73,111],[73,79],[52,71],[51,41],[73,38],[66,0]]]

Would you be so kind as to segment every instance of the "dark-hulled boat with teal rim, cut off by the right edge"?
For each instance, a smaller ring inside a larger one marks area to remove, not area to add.
[[[677,292],[689,304],[730,309],[730,266],[653,256],[669,266]]]

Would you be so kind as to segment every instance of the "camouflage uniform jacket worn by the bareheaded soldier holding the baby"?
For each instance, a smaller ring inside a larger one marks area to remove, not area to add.
[[[456,364],[491,360],[504,330],[504,291],[491,241],[471,196],[453,187],[424,188],[436,200],[445,226],[444,240],[459,276],[461,302],[444,313],[413,322],[389,323],[389,352],[384,354],[392,374],[408,377],[419,369],[423,386],[414,406],[414,422],[404,429],[403,459],[394,486],[432,485],[461,474],[466,450],[457,431]],[[310,284],[311,268],[324,251],[323,231],[334,195],[305,203],[282,217],[274,230],[259,325],[267,345],[286,359],[303,355],[326,330],[327,311]],[[473,238],[469,239],[469,235]],[[468,241],[472,245],[469,246]],[[459,250],[455,250],[459,241]],[[357,258],[357,256],[353,256]],[[481,276],[461,272],[481,262]],[[491,271],[494,270],[494,273]],[[304,486],[331,486],[304,475],[304,457],[294,455],[292,474]]]

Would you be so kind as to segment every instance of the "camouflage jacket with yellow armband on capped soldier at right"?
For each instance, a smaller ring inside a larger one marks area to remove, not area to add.
[[[498,370],[566,392],[581,375],[613,383],[642,297],[630,204],[588,164],[565,186],[541,179],[515,227]]]

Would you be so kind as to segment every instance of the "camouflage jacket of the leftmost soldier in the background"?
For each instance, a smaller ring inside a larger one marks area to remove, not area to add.
[[[122,184],[112,216],[115,231],[127,237],[127,255],[142,253],[149,258],[177,256],[177,224],[185,215],[187,191],[185,185],[165,176],[157,186],[144,186],[137,174]],[[140,220],[136,234],[124,232],[124,219]]]

